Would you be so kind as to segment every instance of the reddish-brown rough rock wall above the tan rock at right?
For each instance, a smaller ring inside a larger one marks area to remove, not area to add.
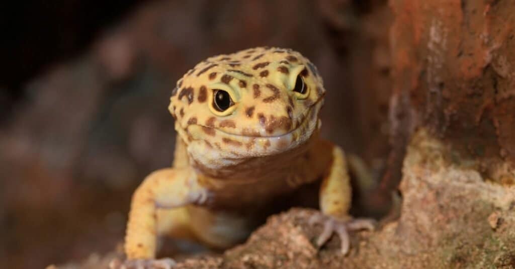
[[[426,126],[482,160],[484,176],[512,179],[515,1],[394,0],[390,5],[396,16],[393,103],[399,105],[392,111],[396,121],[405,122],[394,135],[406,137],[414,126]]]

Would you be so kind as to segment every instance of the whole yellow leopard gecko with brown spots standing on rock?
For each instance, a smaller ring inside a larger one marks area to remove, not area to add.
[[[300,92],[299,83],[305,87]],[[218,90],[231,98],[223,111],[214,101]],[[219,55],[188,71],[170,98],[178,133],[174,165],[152,173],[135,191],[127,258],[155,258],[161,234],[232,246],[248,236],[267,206],[316,180],[322,181],[326,228],[318,243],[334,230],[347,252],[346,227],[369,225],[349,225],[344,152],[318,137],[324,94],[315,66],[290,49]]]

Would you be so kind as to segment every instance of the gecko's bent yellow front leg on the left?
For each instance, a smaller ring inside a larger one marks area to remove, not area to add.
[[[203,203],[205,199],[207,190],[199,186],[190,167],[163,169],[150,174],[132,197],[125,237],[127,261],[120,268],[171,267],[175,263],[173,260],[155,260],[157,209]]]

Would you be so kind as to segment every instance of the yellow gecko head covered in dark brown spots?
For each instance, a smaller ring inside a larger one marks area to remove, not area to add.
[[[300,53],[258,47],[197,64],[177,82],[168,109],[190,159],[220,169],[306,143],[324,94]]]

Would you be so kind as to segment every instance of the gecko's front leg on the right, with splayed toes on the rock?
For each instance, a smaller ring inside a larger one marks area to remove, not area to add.
[[[373,230],[375,221],[368,218],[352,218],[348,215],[351,205],[351,186],[347,161],[343,150],[332,146],[332,163],[330,171],[323,178],[320,188],[320,214],[314,215],[310,224],[323,223],[324,229],[320,234],[317,245],[322,246],[336,232],[341,241],[341,253],[349,252],[349,231]]]

